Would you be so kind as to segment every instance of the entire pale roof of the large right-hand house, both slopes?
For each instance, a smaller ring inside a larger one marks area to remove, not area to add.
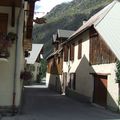
[[[67,40],[71,41],[76,36],[80,35],[91,26],[93,26],[99,35],[106,42],[108,47],[113,51],[116,57],[120,60],[120,2],[113,1],[101,11],[92,16],[84,23],[75,33]]]

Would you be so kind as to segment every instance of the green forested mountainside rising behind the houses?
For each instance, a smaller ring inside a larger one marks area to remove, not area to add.
[[[52,50],[52,34],[57,29],[77,30],[83,20],[88,20],[93,14],[113,0],[73,0],[53,8],[46,16],[46,24],[34,25],[33,43],[44,44],[44,56]]]

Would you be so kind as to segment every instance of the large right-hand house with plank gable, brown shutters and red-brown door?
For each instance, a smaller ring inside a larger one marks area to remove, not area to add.
[[[63,44],[66,94],[118,111],[120,86],[120,2],[113,1],[72,34]]]

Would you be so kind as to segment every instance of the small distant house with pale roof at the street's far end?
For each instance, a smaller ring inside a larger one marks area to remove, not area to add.
[[[32,44],[32,51],[26,57],[26,70],[32,73],[31,82],[37,82],[40,73],[40,60],[43,58],[43,44]]]

